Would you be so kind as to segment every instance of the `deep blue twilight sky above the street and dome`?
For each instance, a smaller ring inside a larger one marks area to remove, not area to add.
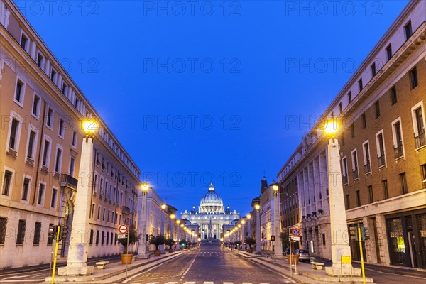
[[[15,1],[160,197],[251,211],[408,1]]]

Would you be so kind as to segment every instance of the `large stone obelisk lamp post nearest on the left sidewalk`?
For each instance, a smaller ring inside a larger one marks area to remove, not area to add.
[[[67,266],[58,268],[58,275],[90,275],[94,268],[94,266],[87,266],[89,234],[86,233],[90,231],[88,220],[90,217],[90,198],[92,197],[93,182],[93,139],[97,124],[95,121],[85,119],[82,121],[82,126],[85,138],[82,145],[80,173],[83,175],[79,175],[75,195],[74,212],[77,214],[74,214],[72,218]]]

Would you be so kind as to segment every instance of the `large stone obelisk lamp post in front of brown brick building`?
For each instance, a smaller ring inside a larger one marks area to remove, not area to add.
[[[352,268],[351,263],[342,263],[342,256],[351,256],[351,248],[344,239],[347,230],[344,207],[342,170],[340,169],[339,141],[336,138],[338,124],[335,119],[327,121],[324,130],[329,138],[327,145],[330,229],[332,233],[332,263],[326,267],[328,275],[361,275],[361,269]]]

